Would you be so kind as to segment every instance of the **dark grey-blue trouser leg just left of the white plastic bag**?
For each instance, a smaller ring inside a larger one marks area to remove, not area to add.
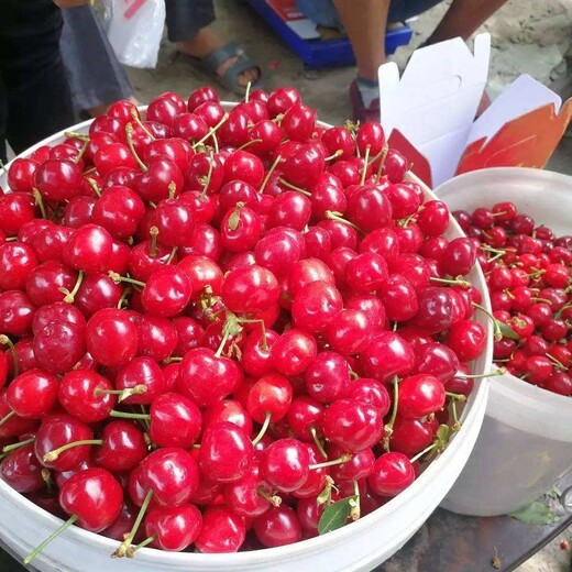
[[[133,87],[91,8],[69,8],[62,15],[59,53],[75,110],[97,117],[113,101],[132,98]]]

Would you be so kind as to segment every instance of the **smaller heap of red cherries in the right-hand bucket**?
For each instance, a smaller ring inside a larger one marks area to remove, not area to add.
[[[503,328],[494,360],[521,380],[572,396],[572,237],[519,213],[513,202],[454,217],[481,242],[494,317]]]

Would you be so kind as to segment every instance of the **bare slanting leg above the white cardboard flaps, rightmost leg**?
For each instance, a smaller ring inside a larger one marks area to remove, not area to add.
[[[453,0],[427,43],[436,44],[453,37],[468,40],[505,3],[506,0]]]

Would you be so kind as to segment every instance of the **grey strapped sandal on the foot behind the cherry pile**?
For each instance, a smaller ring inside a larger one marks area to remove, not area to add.
[[[224,64],[224,62],[228,62],[233,57],[237,58],[237,62],[224,72],[224,75],[219,76],[217,69]],[[244,96],[246,92],[246,87],[239,86],[239,76],[248,69],[257,69],[258,72],[258,79],[251,84],[251,89],[263,87],[262,70],[260,66],[257,66],[235,42],[229,42],[228,44],[213,50],[205,57],[195,57],[189,54],[184,54],[183,52],[177,52],[176,58],[182,58],[193,67],[200,69],[210,77],[213,77],[226,89],[232,91],[237,96]]]

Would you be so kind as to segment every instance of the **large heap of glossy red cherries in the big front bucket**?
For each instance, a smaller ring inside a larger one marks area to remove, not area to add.
[[[475,241],[406,172],[293,88],[121,101],[15,160],[1,477],[116,557],[286,544],[404,491],[486,342]]]

